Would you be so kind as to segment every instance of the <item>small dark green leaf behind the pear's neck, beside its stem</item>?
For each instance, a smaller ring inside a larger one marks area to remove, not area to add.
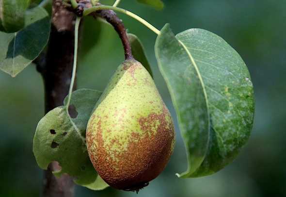
[[[131,45],[133,57],[138,62],[140,62],[146,68],[146,70],[150,73],[150,75],[152,76],[151,66],[150,66],[148,59],[147,59],[147,56],[145,54],[143,44],[141,43],[141,41],[139,40],[139,38],[136,35],[134,35],[132,33],[128,33],[127,36],[128,36],[128,40],[129,40],[130,45]]]

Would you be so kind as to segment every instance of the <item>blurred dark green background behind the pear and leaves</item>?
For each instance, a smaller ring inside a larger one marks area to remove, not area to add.
[[[76,187],[77,197],[284,197],[286,196],[286,0],[163,0],[156,11],[122,0],[120,7],[175,33],[202,28],[222,36],[248,66],[255,92],[254,129],[234,163],[215,175],[178,179],[187,161],[176,119],[176,146],[164,172],[139,192],[91,191]],[[112,4],[104,0],[103,3]],[[128,31],[143,42],[159,91],[174,109],[156,63],[156,34],[119,14]],[[124,60],[117,34],[92,18],[84,21],[79,51],[78,88],[103,90]],[[94,45],[95,46],[92,46]],[[41,76],[29,66],[15,79],[0,72],[0,197],[36,197],[42,170],[32,153],[32,137],[44,115]]]

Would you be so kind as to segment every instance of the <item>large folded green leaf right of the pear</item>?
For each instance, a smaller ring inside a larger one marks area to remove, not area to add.
[[[253,126],[254,92],[239,54],[221,37],[201,29],[176,36],[166,25],[156,57],[185,142],[182,178],[213,174],[232,162]]]

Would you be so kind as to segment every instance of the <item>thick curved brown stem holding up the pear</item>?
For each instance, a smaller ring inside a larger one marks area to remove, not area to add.
[[[113,12],[112,10],[98,10],[95,12],[95,16],[104,18],[107,22],[109,22],[113,26],[113,28],[118,33],[122,41],[122,45],[125,52],[125,60],[132,59],[133,55],[128,40],[128,36],[126,33],[126,29],[124,27],[122,20],[116,15],[116,13]]]

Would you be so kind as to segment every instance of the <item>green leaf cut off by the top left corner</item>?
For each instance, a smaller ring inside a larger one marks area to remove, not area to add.
[[[1,31],[14,33],[25,25],[25,12],[30,0],[0,0]]]

